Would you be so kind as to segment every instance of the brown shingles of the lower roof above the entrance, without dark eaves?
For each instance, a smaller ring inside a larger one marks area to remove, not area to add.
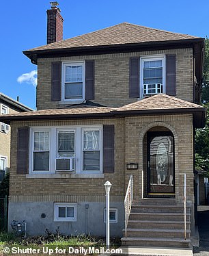
[[[0,116],[0,120],[17,120],[24,118],[30,119],[38,119],[38,118],[51,118],[53,119],[55,116],[60,118],[76,118],[88,117],[88,116],[117,116],[122,112],[132,112],[132,114],[144,114],[150,113],[155,114],[156,112],[175,112],[185,110],[193,112],[193,110],[202,110],[204,111],[204,107],[197,105],[195,103],[191,103],[189,101],[184,101],[182,99],[177,99],[176,97],[171,97],[167,94],[156,94],[152,97],[148,97],[142,99],[141,101],[137,101],[135,103],[130,103],[128,105],[124,105],[123,107],[96,107],[96,106],[86,106],[80,105],[78,107],[68,107],[64,109],[52,109],[52,110],[39,110],[33,112],[25,112],[25,113],[17,113],[17,114],[9,114]]]

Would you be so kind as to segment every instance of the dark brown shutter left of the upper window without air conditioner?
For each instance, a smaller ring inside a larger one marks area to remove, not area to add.
[[[61,62],[51,64],[51,100],[61,101]]]

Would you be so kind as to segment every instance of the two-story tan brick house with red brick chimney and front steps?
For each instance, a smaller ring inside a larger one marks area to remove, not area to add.
[[[9,224],[105,235],[109,180],[112,236],[190,246],[204,39],[121,23],[62,40],[56,4],[48,44],[23,52],[38,65],[37,111],[1,117],[12,127]]]

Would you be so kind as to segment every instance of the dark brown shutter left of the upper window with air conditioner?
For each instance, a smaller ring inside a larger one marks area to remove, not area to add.
[[[131,57],[129,66],[129,97],[139,98],[139,57]]]

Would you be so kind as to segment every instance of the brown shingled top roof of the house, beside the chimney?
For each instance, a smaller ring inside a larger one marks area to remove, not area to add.
[[[131,23],[120,23],[74,38],[53,42],[29,51],[51,49],[70,49],[76,47],[95,47],[115,44],[135,44],[141,42],[163,42],[171,40],[195,39],[196,36],[178,34],[160,29],[152,29]],[[26,53],[25,51],[24,53]]]

